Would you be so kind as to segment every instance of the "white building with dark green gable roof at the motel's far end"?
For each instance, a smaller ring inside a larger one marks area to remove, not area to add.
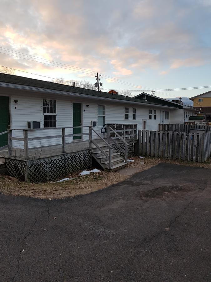
[[[160,123],[183,124],[185,122],[188,122],[190,116],[194,116],[197,113],[197,110],[194,109],[193,107],[189,107],[181,103],[172,102],[160,97],[152,96],[151,94],[147,94],[145,92],[135,96],[134,98],[140,101],[152,102],[160,105],[174,107],[174,110],[172,109],[169,115],[166,114],[165,111],[161,111]],[[168,120],[166,118],[168,118]]]

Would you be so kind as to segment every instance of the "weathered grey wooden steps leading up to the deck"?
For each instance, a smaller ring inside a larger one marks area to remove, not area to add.
[[[108,155],[108,146],[101,146],[101,149]],[[124,162],[124,158],[120,157],[119,153],[116,153],[115,149],[112,149],[112,167],[108,166],[108,158],[98,149],[92,149],[92,156],[103,168],[103,170],[115,171],[124,168],[128,163]]]

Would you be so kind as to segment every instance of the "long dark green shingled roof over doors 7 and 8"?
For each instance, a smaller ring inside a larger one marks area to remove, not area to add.
[[[142,104],[160,105],[159,103],[146,102],[146,101],[138,100],[136,98],[126,97],[123,95],[110,94],[108,92],[90,90],[90,89],[85,89],[81,87],[73,87],[70,85],[48,82],[48,81],[28,78],[24,76],[8,75],[4,73],[0,73],[0,82],[13,83],[13,84],[19,84],[19,85],[24,85],[24,86],[33,86],[33,87],[45,88],[45,89],[50,89],[50,90],[55,90],[55,91],[66,91],[66,92],[72,92],[72,93],[78,93],[78,94],[85,94],[87,96],[104,97],[104,98],[109,98],[109,99],[114,99],[114,100],[123,100],[126,102],[137,102],[137,103],[139,102]]]

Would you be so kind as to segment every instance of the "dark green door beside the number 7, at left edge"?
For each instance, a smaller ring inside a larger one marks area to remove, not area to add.
[[[10,127],[9,97],[0,96],[0,133]],[[0,148],[8,144],[8,134],[0,135]]]

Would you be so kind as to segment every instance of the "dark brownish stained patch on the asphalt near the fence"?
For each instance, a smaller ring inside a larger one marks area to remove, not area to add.
[[[183,186],[162,186],[155,187],[148,191],[140,191],[139,196],[143,198],[157,198],[161,196],[176,196],[179,192],[189,192],[192,191],[191,188]]]

